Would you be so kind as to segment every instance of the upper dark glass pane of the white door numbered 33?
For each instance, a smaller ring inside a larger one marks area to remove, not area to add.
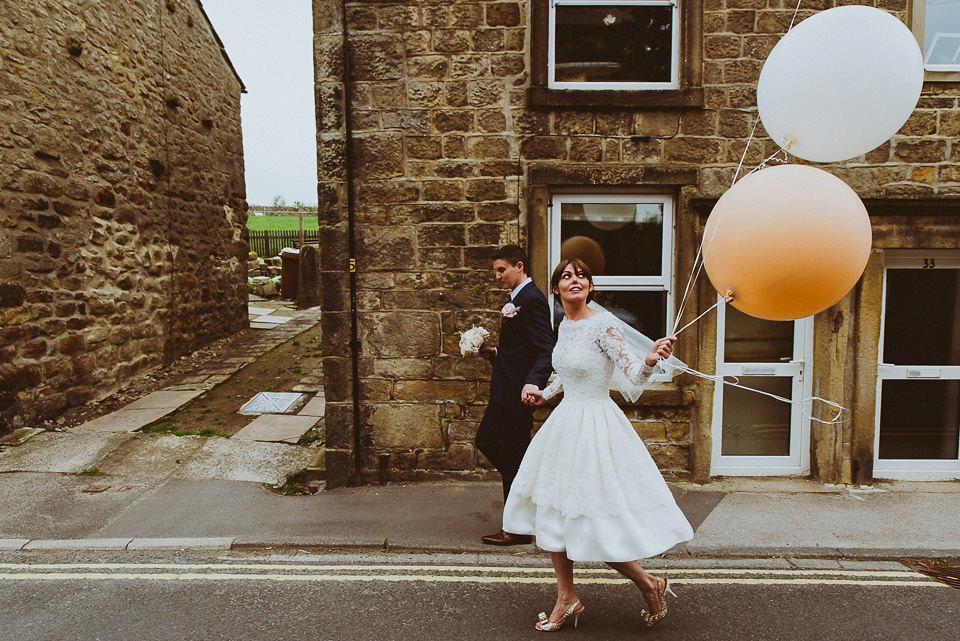
[[[960,365],[960,269],[888,269],[883,362]]]

